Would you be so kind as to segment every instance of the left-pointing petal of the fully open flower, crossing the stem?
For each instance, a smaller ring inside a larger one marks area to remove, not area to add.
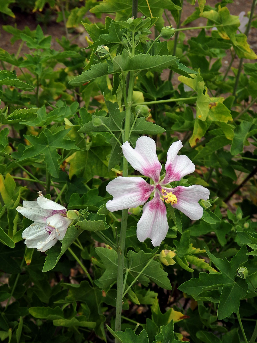
[[[149,185],[141,177],[118,176],[109,182],[106,190],[113,196],[113,200],[109,200],[106,207],[113,212],[143,205],[154,186]]]

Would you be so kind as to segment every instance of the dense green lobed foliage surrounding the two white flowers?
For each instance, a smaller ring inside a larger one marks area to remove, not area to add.
[[[12,43],[30,50],[0,49],[1,341],[256,341],[257,56],[247,43],[255,2],[245,34],[226,7],[231,2],[212,8],[198,0],[183,23],[180,0],[138,0],[143,16],[134,19],[132,0],[1,2],[3,17],[19,5],[43,10],[41,17],[57,13],[66,28],[82,21],[89,44],[82,49],[68,35],[55,50],[40,25],[34,31],[3,26]],[[160,35],[164,14],[182,27],[174,36],[170,29]],[[186,39],[184,28],[199,16],[214,29]],[[182,154],[196,169],[172,187],[210,190],[209,200],[200,201],[200,220],[170,206],[160,247],[138,240],[141,209],[129,210],[126,225],[121,211],[106,208],[110,180],[140,176],[124,164],[121,144],[129,137],[135,147],[142,135],[156,141],[162,173],[170,145],[182,140]],[[40,190],[79,211],[46,253],[25,246],[22,232],[32,221],[16,211]],[[175,251],[174,261],[161,258],[163,249]],[[117,331],[118,275],[124,287]]]

